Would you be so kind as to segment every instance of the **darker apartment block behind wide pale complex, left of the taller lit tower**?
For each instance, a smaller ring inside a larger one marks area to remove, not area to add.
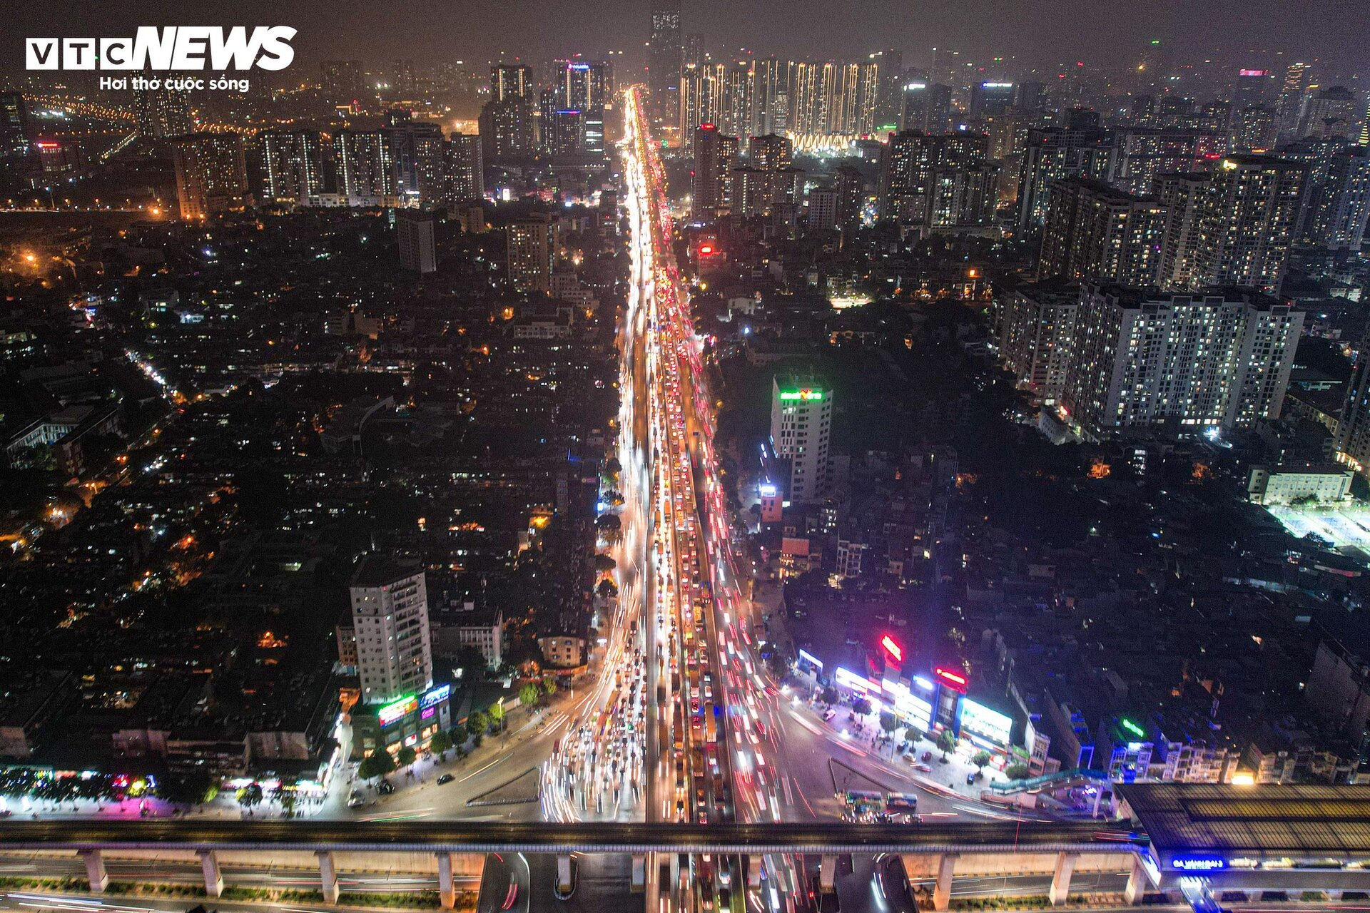
[[[1155,285],[1164,233],[1166,211],[1155,197],[1066,178],[1051,188],[1037,275]]]

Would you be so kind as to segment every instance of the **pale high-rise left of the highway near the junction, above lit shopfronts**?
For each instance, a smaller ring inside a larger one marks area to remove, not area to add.
[[[423,571],[369,554],[349,587],[363,704],[388,704],[433,684]]]

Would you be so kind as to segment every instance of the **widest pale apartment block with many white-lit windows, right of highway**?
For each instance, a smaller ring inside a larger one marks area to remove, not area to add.
[[[1280,416],[1303,313],[1251,289],[1081,287],[1062,416],[1086,441]]]

